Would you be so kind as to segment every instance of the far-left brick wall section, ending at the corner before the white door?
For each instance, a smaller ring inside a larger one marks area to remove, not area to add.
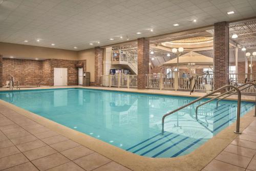
[[[37,85],[42,81],[42,62],[40,60],[3,58],[3,84],[9,81],[9,74],[19,81],[20,85]]]

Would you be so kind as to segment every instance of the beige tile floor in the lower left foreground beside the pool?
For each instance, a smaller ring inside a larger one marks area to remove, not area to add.
[[[0,105],[0,170],[131,169]]]

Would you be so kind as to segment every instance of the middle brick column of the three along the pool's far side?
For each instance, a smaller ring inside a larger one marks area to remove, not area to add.
[[[146,74],[149,74],[150,62],[150,40],[138,38],[138,89],[145,89],[147,86]]]

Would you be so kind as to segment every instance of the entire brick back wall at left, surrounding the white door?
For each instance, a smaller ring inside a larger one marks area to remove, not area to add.
[[[68,68],[68,86],[76,86],[78,85],[78,68],[76,67],[78,62],[83,63],[83,70],[86,71],[86,60],[3,58],[3,84],[6,85],[11,74],[20,82],[20,86],[36,86],[41,81],[44,81],[42,84],[44,86],[53,86],[54,68]]]

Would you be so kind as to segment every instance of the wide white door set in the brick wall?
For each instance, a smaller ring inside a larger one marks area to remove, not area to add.
[[[68,69],[54,68],[54,86],[68,86]]]

